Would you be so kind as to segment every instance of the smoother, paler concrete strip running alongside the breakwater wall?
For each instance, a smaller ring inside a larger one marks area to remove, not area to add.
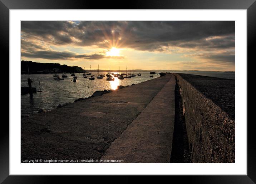
[[[169,163],[174,128],[175,78],[153,98],[102,159],[124,163]]]

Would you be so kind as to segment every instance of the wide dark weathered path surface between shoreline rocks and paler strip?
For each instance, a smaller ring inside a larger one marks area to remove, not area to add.
[[[101,158],[171,76],[22,118],[21,162],[23,159]],[[152,111],[158,112],[158,108],[158,101],[152,101]]]

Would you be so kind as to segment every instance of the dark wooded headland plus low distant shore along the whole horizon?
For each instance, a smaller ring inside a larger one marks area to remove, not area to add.
[[[60,65],[60,63],[40,63],[33,61],[21,61],[21,74],[28,73],[41,74],[41,73],[73,73],[74,67],[68,65]],[[54,70],[55,69],[55,70]],[[98,70],[92,70],[97,72]],[[129,70],[128,70],[129,71]],[[75,73],[83,73],[84,69],[79,66],[75,66]],[[85,70],[85,72],[89,72]],[[99,70],[99,72],[107,72],[107,70]],[[111,72],[119,72],[119,70],[111,70]],[[126,70],[120,70],[120,72],[126,72]],[[202,70],[140,70],[135,69],[133,72],[172,72],[172,73],[235,73],[235,71],[202,71]]]

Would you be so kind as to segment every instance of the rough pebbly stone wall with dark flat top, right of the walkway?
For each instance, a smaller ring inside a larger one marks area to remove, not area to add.
[[[235,80],[174,75],[192,163],[235,163]]]

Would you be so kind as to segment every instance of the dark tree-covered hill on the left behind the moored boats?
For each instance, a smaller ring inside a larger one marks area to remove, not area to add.
[[[79,66],[68,66],[60,65],[60,63],[38,63],[32,61],[21,61],[21,74],[28,73],[73,73],[75,68],[75,73],[83,73],[83,68]]]

